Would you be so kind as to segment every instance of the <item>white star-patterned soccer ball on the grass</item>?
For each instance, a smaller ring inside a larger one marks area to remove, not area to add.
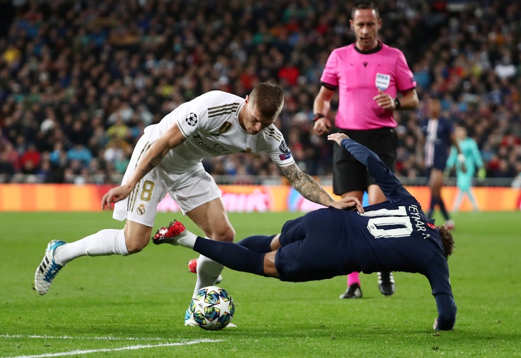
[[[192,297],[188,313],[199,327],[216,331],[231,322],[236,306],[231,295],[221,287],[208,286]]]

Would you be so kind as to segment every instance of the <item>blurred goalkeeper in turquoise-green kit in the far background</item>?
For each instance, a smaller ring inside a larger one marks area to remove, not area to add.
[[[467,195],[472,208],[477,211],[479,210],[474,195],[472,194],[472,179],[478,168],[478,177],[485,178],[485,168],[483,166],[483,160],[481,158],[480,150],[477,148],[475,140],[467,136],[467,129],[458,126],[455,130],[455,137],[458,145],[460,146],[461,153],[465,155],[465,171],[462,170],[460,161],[457,160],[457,150],[454,145],[450,148],[450,155],[447,158],[446,172],[456,167],[456,185],[457,185],[457,196],[452,206],[452,212],[456,212],[460,209],[461,200],[463,195]]]

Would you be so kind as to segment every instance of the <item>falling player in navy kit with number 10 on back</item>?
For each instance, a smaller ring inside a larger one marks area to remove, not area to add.
[[[387,201],[364,210],[357,198],[345,198],[358,211],[315,210],[286,222],[278,235],[250,236],[238,243],[198,237],[178,221],[161,227],[152,241],[189,247],[233,270],[282,281],[324,280],[353,271],[418,272],[428,278],[436,300],[434,329],[452,329],[456,305],[447,265],[452,235],[425,216],[418,200],[373,151],[345,134],[328,139],[368,168]]]

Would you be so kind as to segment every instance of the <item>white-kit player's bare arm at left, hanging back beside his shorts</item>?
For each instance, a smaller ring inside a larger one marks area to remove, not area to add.
[[[161,137],[156,140],[148,150],[146,150],[141,159],[138,160],[136,170],[134,170],[132,177],[128,179],[124,185],[112,188],[103,195],[103,198],[101,199],[101,208],[105,208],[105,205],[107,205],[108,208],[112,208],[111,203],[117,203],[118,201],[125,199],[139,180],[141,180],[146,173],[151,171],[153,168],[156,168],[156,166],[161,162],[161,159],[163,159],[166,153],[168,153],[168,150],[180,145],[185,139],[186,138],[184,138],[177,124],[174,123],[166,133],[161,135]]]

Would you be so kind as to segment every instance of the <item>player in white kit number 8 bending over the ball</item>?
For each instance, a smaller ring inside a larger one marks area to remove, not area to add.
[[[106,229],[66,243],[53,240],[36,269],[34,285],[45,295],[64,265],[85,255],[130,255],[151,237],[156,207],[166,193],[212,240],[232,242],[235,230],[221,191],[201,160],[231,153],[266,153],[304,198],[335,208],[335,201],[295,163],[282,133],[273,125],[284,103],[273,83],[260,83],[249,96],[211,91],[183,103],[158,124],[148,126],[133,150],[120,186],[103,195],[102,208],[113,205],[113,218],[126,220],[121,230]],[[199,257],[195,291],[213,285],[223,266]],[[190,322],[186,321],[186,324]]]

